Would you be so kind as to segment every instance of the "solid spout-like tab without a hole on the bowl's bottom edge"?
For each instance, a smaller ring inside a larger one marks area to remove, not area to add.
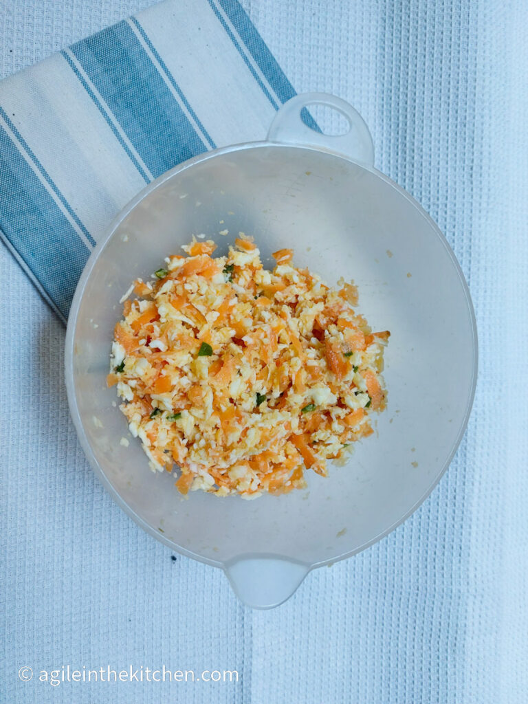
[[[310,567],[273,555],[237,558],[224,570],[234,593],[246,606],[271,609],[296,591]]]

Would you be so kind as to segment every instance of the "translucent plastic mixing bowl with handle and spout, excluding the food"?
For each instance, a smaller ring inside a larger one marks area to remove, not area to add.
[[[301,109],[314,103],[341,113],[348,133],[307,127]],[[142,528],[221,567],[253,607],[282,603],[309,570],[363,550],[410,515],[446,470],[470,414],[477,333],[463,273],[434,222],[372,163],[372,139],[348,103],[296,96],[267,141],[202,154],[146,187],[99,242],[75,292],[65,375],[94,471]],[[291,247],[296,265],[328,284],[354,279],[360,312],[391,331],[388,408],[346,465],[331,465],[327,478],[308,474],[307,490],[182,498],[175,477],[149,470],[106,388],[113,327],[132,280],[149,279],[191,234],[214,239],[222,255],[239,231],[254,235],[265,263]]]

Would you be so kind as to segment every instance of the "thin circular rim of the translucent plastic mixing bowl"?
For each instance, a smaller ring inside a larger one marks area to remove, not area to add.
[[[84,451],[84,455],[86,456],[87,460],[89,461],[89,464],[91,465],[92,469],[94,470],[96,476],[98,477],[99,481],[101,484],[103,484],[104,488],[106,491],[108,491],[108,494],[110,494],[111,498],[113,498],[113,501],[118,504],[118,506],[130,517],[132,520],[139,525],[146,533],[150,534],[153,536],[156,540],[160,541],[161,543],[164,543],[166,546],[170,547],[172,551],[175,551],[179,553],[180,555],[185,555],[186,557],[192,558],[194,560],[198,560],[199,562],[204,562],[207,565],[212,565],[213,567],[220,567],[223,570],[226,570],[229,565],[232,564],[233,560],[229,560],[228,562],[222,562],[220,560],[213,560],[211,558],[208,558],[204,555],[200,555],[199,553],[194,553],[193,551],[184,548],[183,546],[178,545],[175,543],[175,541],[172,541],[165,537],[162,533],[160,533],[155,527],[153,527],[151,524],[146,522],[142,517],[137,515],[132,508],[126,503],[126,501],[122,498],[120,495],[119,491],[117,491],[114,486],[111,484],[110,480],[106,477],[106,474],[103,472],[102,467],[99,465],[97,462],[94,453],[92,451],[92,447],[89,443],[89,440],[87,438],[87,434],[84,432],[84,425],[82,422],[82,419],[80,417],[79,413],[79,408],[77,405],[77,396],[76,396],[76,391],[75,391],[75,383],[74,383],[74,372],[73,372],[73,357],[74,357],[74,352],[73,352],[73,344],[74,344],[74,339],[75,339],[75,332],[77,329],[77,320],[78,320],[78,314],[80,310],[80,305],[82,303],[82,298],[84,296],[84,291],[87,286],[87,282],[89,280],[89,276],[99,259],[99,256],[101,255],[103,249],[105,248],[106,244],[108,241],[113,237],[113,234],[115,234],[115,231],[118,229],[120,224],[122,223],[125,218],[127,218],[128,215],[132,212],[132,210],[139,205],[147,196],[149,196],[153,191],[158,189],[162,184],[167,182],[168,180],[172,179],[172,177],[175,177],[176,175],[188,170],[189,168],[192,168],[194,165],[197,165],[199,163],[203,163],[205,161],[208,161],[210,159],[214,159],[218,156],[223,156],[228,153],[233,153],[235,151],[246,151],[246,150],[251,150],[251,149],[265,149],[265,148],[274,148],[274,149],[298,149],[301,151],[315,151],[315,152],[323,152],[329,154],[329,156],[334,156],[336,158],[339,158],[341,161],[346,161],[347,163],[352,163],[353,165],[356,166],[356,168],[363,169],[367,172],[370,172],[372,175],[375,175],[377,178],[381,179],[384,181],[386,184],[388,184],[390,187],[394,188],[400,196],[405,198],[411,206],[416,208],[420,215],[422,215],[422,218],[424,218],[425,222],[429,227],[432,229],[434,234],[436,234],[436,237],[438,237],[439,241],[441,244],[444,246],[444,249],[446,250],[446,253],[448,254],[448,257],[451,259],[451,263],[453,264],[453,267],[455,271],[458,274],[458,279],[460,280],[460,284],[462,285],[464,296],[465,296],[465,302],[467,304],[467,313],[470,318],[470,327],[471,327],[471,339],[470,339],[470,344],[472,345],[472,377],[471,377],[471,382],[470,382],[470,393],[467,396],[467,403],[465,407],[465,412],[463,416],[463,422],[460,424],[460,428],[458,431],[458,434],[456,436],[455,441],[453,442],[453,446],[451,448],[451,451],[448,453],[448,456],[446,460],[444,461],[444,464],[441,466],[441,469],[439,472],[436,474],[434,479],[432,480],[431,484],[429,487],[426,489],[426,491],[422,494],[422,496],[415,501],[415,503],[412,505],[412,507],[406,511],[398,520],[393,522],[391,526],[388,528],[382,530],[374,536],[372,539],[365,541],[365,543],[362,543],[360,546],[357,548],[354,548],[351,551],[346,551],[344,553],[341,553],[340,555],[336,555],[332,558],[329,558],[327,560],[320,560],[318,562],[314,562],[313,564],[306,564],[306,571],[310,572],[311,570],[315,570],[317,567],[323,567],[325,565],[331,565],[334,562],[339,562],[339,560],[345,560],[346,558],[350,558],[352,555],[356,555],[357,553],[362,552],[366,548],[372,546],[374,543],[377,543],[378,541],[382,540],[386,535],[389,533],[393,532],[399,525],[401,525],[404,521],[410,517],[415,511],[420,508],[420,505],[426,501],[426,499],[429,497],[429,495],[432,493],[433,489],[439,484],[441,478],[444,476],[447,468],[453,461],[453,457],[458,450],[460,443],[463,439],[463,436],[465,434],[465,430],[467,429],[467,423],[469,422],[470,419],[470,414],[473,406],[473,401],[474,401],[474,395],[475,391],[477,388],[477,376],[478,376],[478,358],[479,358],[479,345],[478,345],[478,334],[477,334],[477,320],[475,318],[474,314],[474,307],[470,295],[470,289],[467,285],[467,281],[465,279],[464,273],[462,268],[460,267],[460,263],[458,262],[458,259],[455,256],[455,253],[453,252],[453,249],[451,248],[451,245],[448,243],[445,235],[443,232],[441,232],[440,228],[438,225],[436,225],[436,222],[431,218],[431,216],[422,208],[420,203],[418,203],[413,196],[411,196],[408,191],[403,189],[401,186],[399,186],[396,182],[391,180],[388,176],[386,176],[383,172],[377,170],[375,167],[370,167],[366,166],[364,164],[359,164],[356,163],[356,161],[353,161],[353,159],[349,158],[348,156],[344,155],[343,153],[339,151],[334,151],[332,149],[327,149],[322,146],[311,146],[308,144],[286,144],[284,142],[271,142],[269,140],[263,140],[259,142],[244,142],[241,144],[233,144],[230,146],[224,146],[221,147],[220,149],[213,149],[210,151],[207,151],[205,153],[199,154],[198,156],[194,156],[187,161],[182,162],[181,164],[178,164],[174,168],[164,172],[161,174],[158,178],[153,180],[151,183],[147,184],[139,193],[132,198],[127,205],[124,206],[118,213],[118,215],[113,218],[111,223],[108,225],[106,228],[105,232],[101,236],[101,239],[98,241],[96,247],[92,251],[92,253],[89,256],[89,259],[84,266],[84,269],[82,270],[82,275],[79,279],[79,282],[77,282],[77,287],[75,288],[75,294],[73,296],[73,301],[72,305],[70,307],[70,314],[68,316],[68,324],[66,327],[66,337],[65,337],[65,352],[64,352],[64,376],[65,376],[65,384],[66,384],[66,394],[68,396],[68,406],[70,408],[70,415],[73,420],[73,424],[75,426],[75,430],[77,432],[77,437],[80,441],[80,444],[82,446],[82,449]],[[244,553],[244,555],[239,555],[237,558],[234,559],[239,559],[239,558],[249,558],[249,557],[261,557],[263,556],[263,553]],[[280,557],[280,555],[276,555],[276,557]],[[290,558],[286,558],[289,562],[292,560]],[[304,564],[304,563],[303,563]]]

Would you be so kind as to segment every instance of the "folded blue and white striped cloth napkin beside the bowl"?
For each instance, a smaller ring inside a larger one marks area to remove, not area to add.
[[[237,0],[165,0],[0,82],[0,237],[65,321],[108,224],[295,94]]]

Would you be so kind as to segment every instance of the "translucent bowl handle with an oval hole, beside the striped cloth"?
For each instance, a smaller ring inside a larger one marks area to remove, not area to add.
[[[346,134],[322,134],[313,120],[308,127],[301,119],[301,110],[310,105],[326,105],[333,108],[348,120]],[[337,151],[351,161],[372,167],[374,165],[374,144],[365,121],[351,105],[337,96],[328,93],[301,93],[279,108],[268,132],[268,142],[322,146]]]

